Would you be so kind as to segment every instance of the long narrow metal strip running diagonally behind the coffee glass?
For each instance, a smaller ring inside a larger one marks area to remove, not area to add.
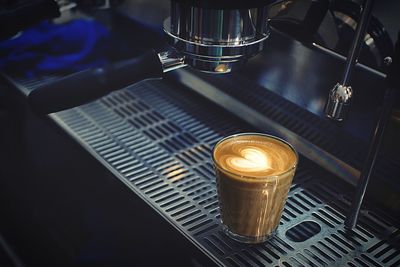
[[[179,70],[175,72],[175,74],[180,83],[185,86],[224,107],[251,125],[256,125],[261,130],[271,131],[274,134],[281,136],[291,143],[301,154],[318,163],[325,169],[335,173],[347,182],[353,185],[357,183],[357,179],[360,175],[359,170],[348,165],[341,159],[326,152],[320,147],[314,145],[312,142],[288,130],[270,118],[263,116],[258,111],[227,95],[212,84],[207,83],[189,71]]]

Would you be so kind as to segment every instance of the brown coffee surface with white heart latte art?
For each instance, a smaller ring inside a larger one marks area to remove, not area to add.
[[[240,176],[265,177],[289,170],[296,155],[284,143],[265,136],[237,136],[220,143],[214,151],[220,167]]]

